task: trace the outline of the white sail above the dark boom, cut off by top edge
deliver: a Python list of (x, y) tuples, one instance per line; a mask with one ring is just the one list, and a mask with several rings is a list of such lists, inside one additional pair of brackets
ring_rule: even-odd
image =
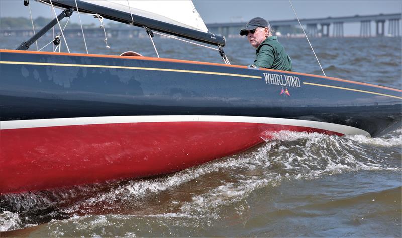
[[(208, 29), (191, 0), (81, 0), (197, 31)], [(129, 8), (130, 7), (130, 8)], [(134, 19), (135, 21), (135, 19)]]

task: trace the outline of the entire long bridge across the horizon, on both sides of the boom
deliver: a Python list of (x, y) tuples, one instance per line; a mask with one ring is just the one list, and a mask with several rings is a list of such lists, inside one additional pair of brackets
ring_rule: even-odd
[[(360, 37), (371, 36), (400, 36), (400, 19), (401, 13), (395, 14), (377, 14), (365, 16), (349, 16), (349, 17), (327, 17), (327, 18), (310, 18), (300, 19), (306, 34), (313, 37), (344, 37), (345, 23), (360, 23)], [(371, 34), (371, 23), (375, 23), (375, 34)], [(282, 36), (303, 36), (303, 32), (299, 27), (297, 19), (270, 21), (271, 26), (276, 32), (280, 32)], [(246, 22), (231, 23), (212, 23), (207, 24), (210, 32), (223, 35), (225, 37), (240, 37), (239, 31), (246, 25)], [(386, 34), (386, 26), (388, 31)], [(58, 29), (55, 28), (57, 33)], [(332, 29), (332, 34), (330, 33)], [(103, 29), (99, 27), (85, 28), (85, 36), (88, 37), (104, 37)], [(106, 26), (108, 37), (148, 37), (145, 30), (138, 27), (132, 27), (127, 24), (118, 24), (113, 27)], [(50, 36), (51, 31), (47, 32)], [(80, 36), (81, 28), (66, 28), (64, 34), (67, 36)], [(0, 29), (2, 36), (24, 36), (33, 35), (32, 29)]]

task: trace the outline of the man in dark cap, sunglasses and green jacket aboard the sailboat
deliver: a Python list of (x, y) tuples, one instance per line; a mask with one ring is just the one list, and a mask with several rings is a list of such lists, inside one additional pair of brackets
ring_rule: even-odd
[(272, 36), (269, 23), (260, 17), (251, 19), (240, 31), (246, 35), (251, 46), (257, 48), (251, 67), (292, 71), (292, 61), (276, 36)]

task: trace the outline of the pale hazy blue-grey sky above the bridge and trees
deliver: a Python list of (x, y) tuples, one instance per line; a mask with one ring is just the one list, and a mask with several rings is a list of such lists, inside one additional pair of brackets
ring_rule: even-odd
[[(125, 0), (122, 0), (125, 1)], [(50, 17), (50, 8), (31, 0), (33, 17)], [(256, 0), (193, 0), (195, 7), (205, 23), (239, 22), (259, 16), (267, 20), (294, 19), (294, 13), (289, 1), (256, 1)], [(360, 0), (360, 1), (324, 1), (324, 0), (293, 0), (293, 6), (299, 18), (337, 17), (402, 12), (401, 0)], [(29, 17), (29, 10), (23, 5), (23, 0), (0, 0), (1, 17)], [(92, 21), (91, 17), (83, 17), (85, 23)], [(78, 18), (71, 19), (78, 22)]]

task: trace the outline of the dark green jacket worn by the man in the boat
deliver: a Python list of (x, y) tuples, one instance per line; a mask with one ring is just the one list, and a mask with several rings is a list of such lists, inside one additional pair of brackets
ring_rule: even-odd
[(261, 68), (292, 71), (292, 61), (276, 36), (268, 37), (258, 46), (254, 65)]

